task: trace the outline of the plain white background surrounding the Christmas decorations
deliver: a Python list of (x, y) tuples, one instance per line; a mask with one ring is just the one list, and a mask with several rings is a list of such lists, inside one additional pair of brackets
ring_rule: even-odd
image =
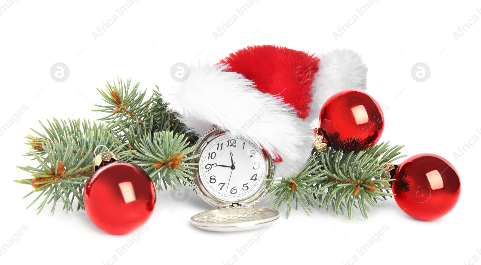
[[(0, 4), (6, 0), (0, 0)], [(101, 103), (97, 88), (117, 75), (142, 88), (163, 88), (174, 81), (170, 67), (177, 62), (215, 63), (228, 53), (254, 44), (275, 44), (320, 53), (338, 47), (363, 55), (368, 91), (389, 107), (381, 140), (405, 144), (404, 154), (432, 152), (447, 158), (457, 169), (462, 192), (456, 208), (443, 218), (424, 222), (404, 213), (393, 199), (372, 209), (369, 220), (359, 212), (349, 221), (332, 211), (300, 210), (289, 220), (285, 211), (278, 221), (242, 256), (236, 252), (256, 231), (215, 233), (190, 225), (190, 216), (212, 209), (197, 195), (175, 202), (169, 192), (158, 195), (147, 232), (114, 264), (481, 264), (471, 260), (481, 248), (479, 229), (479, 153), (481, 142), (455, 159), (453, 152), (481, 129), (480, 30), (475, 22), (457, 40), (453, 32), (468, 22), (481, 5), (476, 1), (374, 2), (364, 14), (356, 9), (367, 1), (254, 2), (220, 38), (217, 27), (236, 14), (246, 0), (135, 2), (97, 40), (92, 32), (116, 13), (125, 0), (13, 2), (0, 16), (0, 75), (3, 98), (0, 124), (23, 105), (20, 120), (1, 139), (2, 218), (0, 245), (23, 225), (28, 230), (0, 256), (1, 264), (107, 264), (115, 250), (133, 234), (113, 236), (99, 232), (85, 212), (65, 215), (58, 205), (36, 217), (24, 210), (31, 190), (11, 182), (29, 175), (14, 165), (27, 165), (22, 137), (37, 120), (101, 117), (91, 112)], [(337, 40), (332, 32), (354, 14), (359, 20)], [(54, 63), (70, 68), (64, 82), (50, 76)], [(430, 78), (415, 81), (411, 67), (430, 67)], [(481, 135), (478, 134), (481, 137)], [(262, 206), (270, 203), (262, 202)], [(280, 209), (282, 210), (282, 209)], [(35, 217), (35, 219), (34, 219)], [(362, 247), (383, 226), (389, 230), (364, 255)], [(229, 261), (233, 255), (239, 260)], [(471, 260), (471, 261), (469, 261)], [(112, 262), (109, 262), (112, 264)]]

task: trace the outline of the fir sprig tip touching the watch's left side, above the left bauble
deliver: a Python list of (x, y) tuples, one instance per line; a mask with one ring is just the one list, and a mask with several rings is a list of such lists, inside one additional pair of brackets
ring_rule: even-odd
[(193, 178), (191, 170), (196, 169), (196, 164), (188, 163), (197, 155), (189, 156), (195, 146), (187, 140), (185, 135), (174, 135), (172, 131), (154, 132), (152, 137), (144, 134), (136, 146), (137, 150), (131, 151), (131, 162), (149, 174), (157, 191), (163, 190), (162, 184), (164, 188), (182, 187), (183, 183), (190, 183)]

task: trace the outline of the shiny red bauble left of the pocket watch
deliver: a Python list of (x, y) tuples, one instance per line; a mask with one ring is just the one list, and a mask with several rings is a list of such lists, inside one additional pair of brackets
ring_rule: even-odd
[(117, 161), (102, 166), (89, 179), (84, 204), (97, 227), (111, 234), (127, 234), (152, 215), (155, 187), (143, 169)]

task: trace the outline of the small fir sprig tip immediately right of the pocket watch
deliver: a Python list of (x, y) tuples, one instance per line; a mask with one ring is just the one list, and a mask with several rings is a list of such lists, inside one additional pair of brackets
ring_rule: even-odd
[(319, 164), (318, 159), (317, 155), (312, 155), (302, 170), (295, 176), (286, 177), (284, 179), (266, 179), (266, 181), (278, 182), (264, 189), (270, 193), (267, 197), (267, 201), (276, 196), (272, 202), (272, 207), (277, 209), (282, 202), (286, 202), (287, 218), (291, 215), (292, 200), (295, 201), (295, 209), (298, 210), (299, 204), (301, 204), (301, 207), (307, 215), (312, 213), (311, 207), (314, 207), (315, 204), (322, 206), (322, 204), (316, 200), (316, 195), (320, 196), (324, 194), (324, 192), (317, 189), (315, 184), (326, 177), (320, 172), (321, 165)]

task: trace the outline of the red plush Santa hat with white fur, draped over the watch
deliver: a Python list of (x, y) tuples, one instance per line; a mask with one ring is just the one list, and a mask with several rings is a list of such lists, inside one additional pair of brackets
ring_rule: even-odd
[(261, 45), (214, 66), (192, 65), (187, 80), (162, 94), (198, 136), (216, 125), (251, 139), (277, 162), (276, 177), (288, 177), (310, 156), (324, 101), (342, 89), (366, 89), (366, 72), (352, 50), (315, 56)]

